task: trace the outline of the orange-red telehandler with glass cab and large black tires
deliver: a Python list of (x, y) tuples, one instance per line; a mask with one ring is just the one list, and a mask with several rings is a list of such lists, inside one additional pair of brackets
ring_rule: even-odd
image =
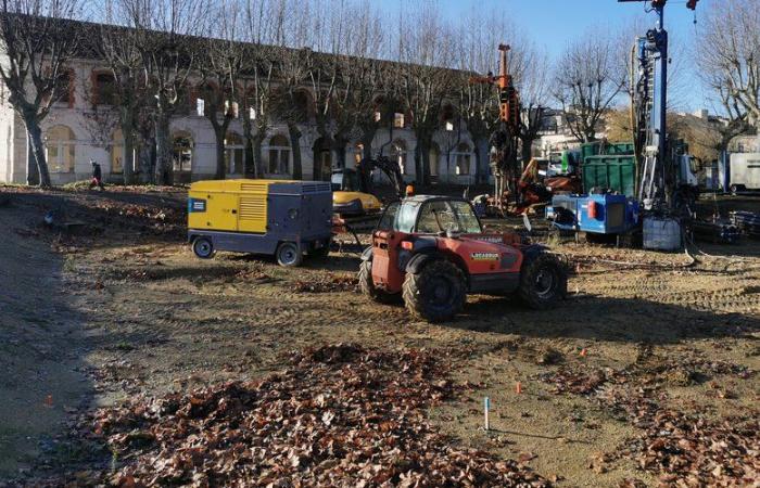
[(555, 255), (516, 233), (485, 233), (463, 198), (417, 195), (392, 203), (362, 255), (362, 292), (380, 303), (403, 298), (416, 317), (438, 322), (465, 306), (468, 293), (517, 294), (536, 309), (567, 293)]

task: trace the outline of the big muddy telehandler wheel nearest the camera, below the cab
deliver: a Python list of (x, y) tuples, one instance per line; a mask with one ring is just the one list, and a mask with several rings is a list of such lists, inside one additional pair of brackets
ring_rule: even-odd
[(467, 301), (465, 274), (452, 261), (436, 259), (418, 273), (406, 273), (404, 304), (413, 316), (442, 322), (461, 311)]

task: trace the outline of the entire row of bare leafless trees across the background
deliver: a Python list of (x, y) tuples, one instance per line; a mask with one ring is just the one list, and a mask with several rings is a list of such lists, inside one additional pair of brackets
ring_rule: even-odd
[[(216, 134), (218, 178), (226, 174), (225, 139), (237, 117), (246, 174), (262, 172), (262, 145), (277, 121), (288, 128), (293, 177), (300, 178), (304, 123), (340, 162), (350, 141), (372, 155), (377, 131), (392, 128), (401, 113), (417, 139), (416, 175), (427, 183), (433, 136), (442, 128), (448, 129), (447, 157), (465, 128), (476, 143), (477, 167), (487, 157), (482, 149), (497, 125), (498, 99), (494, 87), (469, 80), (495, 70), (501, 42), (512, 46), (523, 157), (546, 106), (561, 106), (575, 138), (588, 141), (628, 88), (631, 36), (580, 37), (553, 69), (548, 56), (503, 17), (471, 13), (452, 24), (433, 0), (403, 4), (396, 14), (369, 0), (109, 0), (98, 12), (88, 12), (88, 4), (0, 0), (8, 55), (0, 75), (27, 128), (42, 185), (50, 177), (40, 124), (65, 93), (67, 66), (78, 57), (100, 59), (111, 74), (111, 103), (93, 98), (88, 116), (94, 127), (107, 127), (103, 120), (110, 118), (122, 129), (127, 183), (135, 181), (134, 167), (151, 180), (173, 182), (169, 124), (195, 98)], [(734, 131), (760, 118), (757, 4), (738, 0), (712, 12), (704, 37), (710, 49), (696, 53)]]

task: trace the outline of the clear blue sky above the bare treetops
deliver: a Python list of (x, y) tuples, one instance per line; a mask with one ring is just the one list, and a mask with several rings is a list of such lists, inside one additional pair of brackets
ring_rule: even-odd
[[(391, 7), (392, 0), (379, 0)], [(408, 2), (417, 0), (396, 0)], [(698, 81), (691, 66), (693, 46), (699, 34), (700, 18), (707, 9), (714, 3), (725, 0), (700, 0), (695, 12), (686, 8), (685, 0), (669, 0), (666, 7), (666, 29), (670, 33), (671, 55), (673, 64), (683, 73), (680, 75), (679, 87), (674, 88), (671, 100), (673, 108), (680, 111), (696, 111), (711, 108), (707, 100), (708, 93), (697, 87)], [(590, 28), (608, 26), (610, 29), (623, 28), (633, 22), (643, 26), (643, 30), (654, 27), (657, 22), (655, 13), (645, 13), (647, 2), (619, 3), (616, 0), (439, 0), (441, 13), (452, 22), (464, 16), (472, 9), (485, 10), (506, 14), (516, 25), (524, 28), (534, 42), (546, 49), (550, 56), (559, 55), (568, 42), (582, 36)], [(394, 7), (394, 8), (397, 8)], [(642, 35), (645, 31), (641, 33)], [(633, 40), (632, 40), (633, 42)], [(672, 69), (672, 68), (671, 68)], [(695, 87), (697, 87), (695, 89)]]

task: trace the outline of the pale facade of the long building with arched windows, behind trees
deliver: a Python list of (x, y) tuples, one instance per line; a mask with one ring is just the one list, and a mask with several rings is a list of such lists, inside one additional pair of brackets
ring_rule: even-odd
[[(53, 184), (85, 180), (91, 174), (90, 159), (101, 164), (106, 181), (122, 181), (124, 142), (116, 111), (103, 108), (102, 91), (107, 86), (107, 69), (96, 60), (80, 59), (68, 63), (69, 90), (56, 102), (43, 120), (48, 164)], [(7, 90), (0, 82), (0, 182), (26, 183), (35, 172), (26, 138), (18, 115), (8, 103)], [(100, 91), (99, 91), (100, 90)], [(101, 101), (92, 101), (101, 95)], [(172, 120), (174, 169), (178, 182), (212, 178), (216, 169), (216, 139), (210, 120), (203, 116), (203, 101), (189, 101), (189, 110)], [(98, 106), (98, 108), (94, 108)], [(243, 127), (238, 114), (226, 139), (228, 178), (243, 176)], [(391, 127), (393, 125), (393, 127)], [(442, 124), (430, 150), (433, 181), (470, 184), (489, 174), (487, 160), (477, 168), (474, 143), (463, 124)], [(301, 127), (300, 141), (303, 179), (328, 180), (332, 169), (342, 165), (335, 152), (324, 149), (314, 124)], [(395, 159), (405, 179), (415, 179), (414, 154), (417, 145), (414, 132), (403, 114), (395, 114), (388, 128), (380, 129), (372, 142), (372, 151), (384, 145), (384, 154)], [(487, 149), (481, 147), (481, 154)], [(360, 159), (362, 146), (346, 146), (345, 165), (351, 167)], [(137, 159), (137, 158), (136, 158)], [(293, 174), (293, 151), (284, 124), (271, 124), (263, 146), (265, 178), (290, 178)], [(484, 157), (483, 159), (487, 159)]]

